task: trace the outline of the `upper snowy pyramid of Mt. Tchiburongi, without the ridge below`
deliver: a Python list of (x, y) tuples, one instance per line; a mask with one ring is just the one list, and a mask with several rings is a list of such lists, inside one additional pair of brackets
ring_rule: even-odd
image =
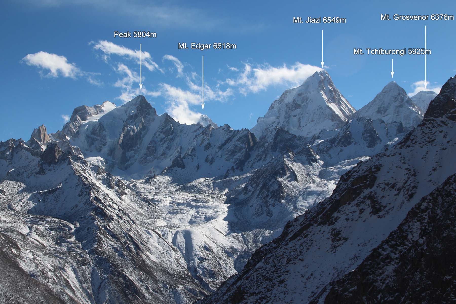
[(375, 98), (357, 113), (370, 119), (383, 119), (385, 123), (402, 122), (414, 127), (423, 119), (421, 109), (396, 82), (389, 82)]

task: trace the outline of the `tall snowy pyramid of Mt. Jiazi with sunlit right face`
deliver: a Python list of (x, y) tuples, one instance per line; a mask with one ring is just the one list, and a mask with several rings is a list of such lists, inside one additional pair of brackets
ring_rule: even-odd
[(257, 138), (276, 126), (305, 137), (337, 129), (355, 109), (334, 86), (326, 71), (315, 72), (301, 86), (286, 90), (251, 129)]

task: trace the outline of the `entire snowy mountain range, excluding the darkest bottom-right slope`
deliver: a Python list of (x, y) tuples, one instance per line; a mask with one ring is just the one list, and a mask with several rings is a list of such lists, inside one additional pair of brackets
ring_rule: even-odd
[(390, 82), (356, 112), (316, 72), (251, 130), (180, 124), (141, 95), (75, 108), (61, 131), (0, 142), (1, 265), (24, 286), (0, 278), (0, 294), (348, 303), (363, 271), (378, 288), (369, 257), (407, 213), (451, 192), (453, 89), (409, 98)]

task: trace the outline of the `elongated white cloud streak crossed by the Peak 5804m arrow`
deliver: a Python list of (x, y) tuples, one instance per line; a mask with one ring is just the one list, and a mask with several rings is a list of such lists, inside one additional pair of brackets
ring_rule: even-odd
[(149, 69), (149, 71), (158, 70), (163, 72), (161, 68), (156, 64), (149, 52), (140, 52), (140, 50), (132, 50), (125, 46), (119, 46), (111, 41), (100, 40), (96, 43), (93, 48), (95, 50), (100, 50), (104, 53), (103, 59), (108, 62), (108, 59), (111, 55), (117, 55), (128, 60), (132, 60), (140, 64), (140, 57), (142, 59), (142, 64)]

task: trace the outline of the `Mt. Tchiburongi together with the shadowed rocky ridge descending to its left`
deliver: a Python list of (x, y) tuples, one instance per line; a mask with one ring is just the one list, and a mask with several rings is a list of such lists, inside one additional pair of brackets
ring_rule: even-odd
[(314, 149), (326, 165), (373, 156), (415, 128), (423, 119), (422, 113), (403, 88), (389, 82), (337, 134), (324, 141), (318, 140), (322, 136), (315, 136)]

